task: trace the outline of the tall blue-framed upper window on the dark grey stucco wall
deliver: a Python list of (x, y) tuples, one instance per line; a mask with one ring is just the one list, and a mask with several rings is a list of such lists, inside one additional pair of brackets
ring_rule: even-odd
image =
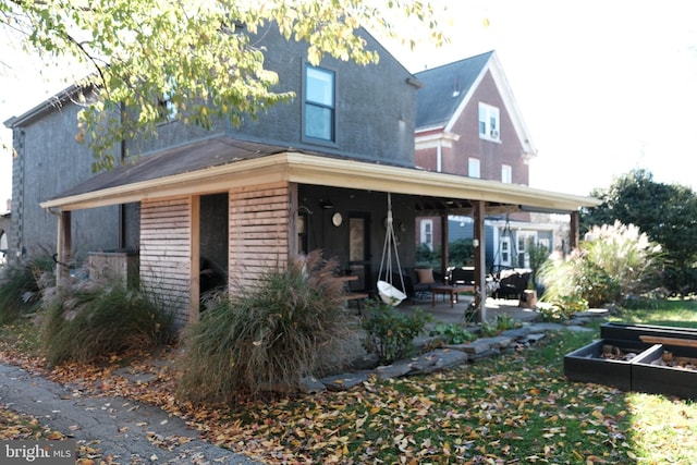
[(334, 73), (305, 68), (305, 137), (334, 142)]

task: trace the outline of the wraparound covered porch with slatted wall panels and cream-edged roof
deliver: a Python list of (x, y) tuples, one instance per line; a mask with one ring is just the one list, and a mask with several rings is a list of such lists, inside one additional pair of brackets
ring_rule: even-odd
[[(395, 198), (395, 217), (402, 219), (403, 267), (414, 266), (409, 219), (433, 213), (443, 221), (449, 215), (474, 218), (478, 320), (486, 320), (489, 311), (488, 305), (480, 305), (487, 302), (482, 252), (487, 215), (522, 209), (570, 213), (574, 246), (578, 209), (596, 205), (588, 197), (213, 137), (143, 157), (41, 206), (59, 213), (58, 261), (65, 264), (73, 247), (73, 210), (137, 203), (140, 280), (171, 298), (185, 325), (198, 318), (198, 264), (206, 247), (220, 248), (217, 254), (231, 291), (253, 285), (268, 269), (282, 268), (314, 248), (340, 257), (342, 266), (363, 266), (357, 269), (364, 270), (364, 286), (371, 289), (379, 247), (352, 256), (355, 235), (350, 220), (363, 218), (366, 244), (379, 244), (384, 236), (388, 193)], [(314, 225), (304, 229), (308, 212)], [(207, 215), (216, 221), (206, 221)], [(211, 241), (203, 241), (203, 235)], [(443, 255), (447, 260), (447, 252)], [(66, 272), (61, 267), (58, 271), (59, 279)]]

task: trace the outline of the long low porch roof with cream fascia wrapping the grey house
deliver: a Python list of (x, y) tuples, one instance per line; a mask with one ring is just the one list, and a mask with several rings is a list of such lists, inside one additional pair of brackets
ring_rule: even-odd
[(464, 211), (470, 200), (550, 212), (599, 204), (591, 197), (221, 136), (144, 156), (135, 164), (100, 173), (40, 206), (80, 210), (280, 181), (418, 196), (424, 210)]

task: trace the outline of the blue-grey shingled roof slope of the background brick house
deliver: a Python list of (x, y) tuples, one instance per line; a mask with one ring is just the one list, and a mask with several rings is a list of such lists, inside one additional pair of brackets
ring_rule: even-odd
[(444, 125), (492, 54), (488, 51), (414, 74), (424, 85), (416, 93), (416, 129)]

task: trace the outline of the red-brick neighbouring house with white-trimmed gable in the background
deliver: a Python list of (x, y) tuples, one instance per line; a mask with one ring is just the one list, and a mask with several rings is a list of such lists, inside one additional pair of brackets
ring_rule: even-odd
[[(423, 84), (416, 106), (417, 167), (503, 184), (529, 184), (528, 162), (537, 150), (494, 51), (415, 76)], [(449, 216), (455, 218), (448, 222), (438, 217), (417, 218), (417, 244), (438, 249), (456, 238), (474, 237), (472, 220), (463, 216), (467, 211), (457, 207), (452, 206)], [(531, 221), (531, 213), (509, 207), (489, 209), (488, 266), (528, 266), (525, 248), (530, 241), (550, 249), (560, 246), (555, 234), (564, 231), (558, 224), (540, 213)]]

